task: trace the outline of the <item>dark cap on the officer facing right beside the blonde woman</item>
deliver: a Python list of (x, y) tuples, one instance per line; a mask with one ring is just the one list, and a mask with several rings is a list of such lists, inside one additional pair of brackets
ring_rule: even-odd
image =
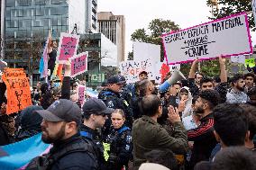
[(105, 103), (97, 98), (90, 98), (83, 105), (84, 114), (111, 114), (114, 109), (105, 106)]

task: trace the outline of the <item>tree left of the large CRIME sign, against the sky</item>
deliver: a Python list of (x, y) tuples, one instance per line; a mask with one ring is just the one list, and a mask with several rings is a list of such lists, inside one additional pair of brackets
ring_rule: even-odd
[[(175, 22), (171, 22), (170, 20), (154, 19), (150, 22), (147, 30), (144, 28), (135, 30), (131, 35), (131, 40), (160, 45), (160, 59), (163, 61), (164, 50), (160, 36), (163, 33), (178, 30), (179, 26), (178, 24), (175, 24)], [(129, 58), (133, 58), (133, 53), (129, 52)]]

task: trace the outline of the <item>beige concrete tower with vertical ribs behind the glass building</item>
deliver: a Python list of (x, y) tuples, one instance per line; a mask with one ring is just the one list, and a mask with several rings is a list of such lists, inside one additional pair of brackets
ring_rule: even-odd
[(123, 15), (111, 12), (98, 13), (98, 31), (117, 46), (118, 63), (124, 60), (125, 47), (125, 19)]

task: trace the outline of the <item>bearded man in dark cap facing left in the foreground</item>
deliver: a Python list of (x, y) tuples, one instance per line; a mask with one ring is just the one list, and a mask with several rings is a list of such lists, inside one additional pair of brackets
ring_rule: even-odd
[(97, 169), (95, 152), (78, 130), (81, 112), (76, 103), (60, 99), (37, 112), (43, 118), (41, 140), (53, 147), (48, 154), (32, 159), (26, 169)]

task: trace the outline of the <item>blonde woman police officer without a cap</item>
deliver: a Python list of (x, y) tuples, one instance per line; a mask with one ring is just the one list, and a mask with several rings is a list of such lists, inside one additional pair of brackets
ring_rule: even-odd
[(121, 170), (123, 166), (128, 169), (128, 162), (132, 158), (133, 142), (131, 129), (125, 126), (124, 113), (116, 109), (111, 114), (112, 130), (106, 138), (110, 145), (108, 153), (108, 169)]

